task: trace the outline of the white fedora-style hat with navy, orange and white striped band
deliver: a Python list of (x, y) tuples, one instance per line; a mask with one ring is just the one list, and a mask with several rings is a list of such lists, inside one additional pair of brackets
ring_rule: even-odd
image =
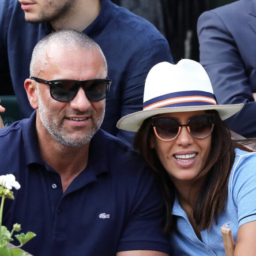
[(218, 105), (211, 81), (203, 66), (183, 59), (177, 64), (161, 62), (149, 71), (143, 98), (143, 110), (128, 114), (117, 122), (117, 128), (136, 132), (148, 117), (162, 113), (211, 110), (222, 120), (237, 113), (243, 104)]

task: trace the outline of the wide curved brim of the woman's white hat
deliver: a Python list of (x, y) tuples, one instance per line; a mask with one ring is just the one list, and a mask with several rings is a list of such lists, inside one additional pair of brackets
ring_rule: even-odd
[(222, 120), (233, 116), (235, 113), (241, 110), (243, 107), (241, 104), (233, 105), (198, 105), (198, 106), (183, 106), (183, 107), (169, 107), (169, 108), (158, 108), (158, 109), (147, 109), (136, 113), (128, 114), (120, 118), (117, 122), (117, 128), (126, 130), (129, 132), (137, 132), (139, 127), (145, 119), (148, 117), (153, 117), (158, 114), (163, 113), (176, 113), (176, 112), (190, 112), (190, 111), (200, 111), (200, 110), (217, 110), (219, 116)]

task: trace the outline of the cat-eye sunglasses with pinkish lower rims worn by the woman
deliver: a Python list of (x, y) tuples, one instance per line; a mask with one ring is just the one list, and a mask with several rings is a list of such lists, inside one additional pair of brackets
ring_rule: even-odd
[(152, 117), (152, 125), (154, 133), (158, 139), (171, 141), (175, 139), (181, 132), (181, 127), (185, 126), (188, 132), (196, 139), (207, 138), (214, 128), (214, 115), (201, 114), (192, 117), (188, 124), (180, 124), (172, 117)]

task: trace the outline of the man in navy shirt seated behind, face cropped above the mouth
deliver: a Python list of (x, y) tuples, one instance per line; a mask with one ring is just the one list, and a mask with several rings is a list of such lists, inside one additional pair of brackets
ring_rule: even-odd
[[(25, 14), (25, 15), (24, 15)], [(0, 0), (0, 95), (13, 85), (23, 117), (31, 108), (23, 88), (36, 43), (54, 30), (75, 29), (102, 48), (113, 82), (106, 98), (102, 128), (127, 144), (134, 133), (116, 128), (120, 117), (142, 110), (147, 72), (172, 62), (166, 38), (149, 22), (111, 0)], [(1, 110), (0, 110), (1, 111)]]

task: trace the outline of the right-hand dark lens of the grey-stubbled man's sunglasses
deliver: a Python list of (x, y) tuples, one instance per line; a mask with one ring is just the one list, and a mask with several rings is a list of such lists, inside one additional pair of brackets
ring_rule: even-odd
[(109, 82), (103, 79), (88, 81), (83, 87), (86, 96), (91, 101), (100, 101), (107, 97), (109, 92)]

